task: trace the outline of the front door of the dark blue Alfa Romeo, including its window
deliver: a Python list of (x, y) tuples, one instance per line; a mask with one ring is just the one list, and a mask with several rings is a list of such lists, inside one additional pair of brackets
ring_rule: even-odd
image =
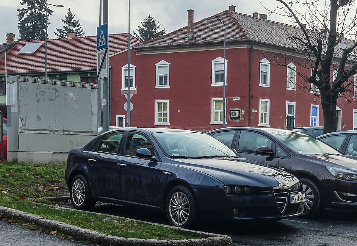
[(149, 137), (141, 132), (128, 132), (120, 165), (119, 192), (121, 200), (161, 206), (157, 187), (165, 186), (166, 174), (159, 170), (161, 162), (136, 156), (136, 150), (147, 148), (157, 158), (157, 152)]

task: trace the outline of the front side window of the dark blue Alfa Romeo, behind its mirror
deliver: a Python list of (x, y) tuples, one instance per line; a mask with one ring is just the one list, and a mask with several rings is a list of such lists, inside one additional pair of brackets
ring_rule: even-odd
[(155, 155), (154, 146), (152, 146), (146, 136), (136, 132), (129, 132), (126, 139), (124, 155), (136, 156), (136, 150), (141, 148), (147, 148), (152, 156)]

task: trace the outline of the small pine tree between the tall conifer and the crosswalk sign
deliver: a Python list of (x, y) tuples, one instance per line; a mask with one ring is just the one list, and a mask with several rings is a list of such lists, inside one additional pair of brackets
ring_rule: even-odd
[(74, 32), (75, 37), (82, 37), (84, 35), (84, 31), (81, 26), (81, 22), (79, 19), (74, 19), (76, 15), (74, 12), (69, 8), (67, 10), (67, 15), (65, 15), (65, 19), (61, 19), (61, 21), (65, 24), (63, 29), (57, 29), (55, 32), (56, 37), (59, 39), (65, 38), (68, 35), (68, 32)]

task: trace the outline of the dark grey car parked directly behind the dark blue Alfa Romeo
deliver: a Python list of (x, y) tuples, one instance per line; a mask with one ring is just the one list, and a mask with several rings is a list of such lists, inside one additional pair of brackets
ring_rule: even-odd
[(207, 133), (247, 159), (298, 177), (306, 192), (306, 217), (322, 207), (357, 208), (356, 157), (315, 137), (289, 130), (227, 127)]

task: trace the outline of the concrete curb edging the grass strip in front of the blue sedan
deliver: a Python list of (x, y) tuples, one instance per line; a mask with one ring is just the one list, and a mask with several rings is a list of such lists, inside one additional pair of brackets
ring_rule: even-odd
[[(66, 209), (66, 208), (62, 208), (62, 209)], [(206, 236), (207, 238), (191, 239), (191, 240), (170, 240), (170, 241), (156, 240), (156, 239), (146, 240), (146, 239), (135, 239), (135, 238), (126, 239), (124, 237), (105, 235), (89, 229), (84, 229), (78, 226), (69, 225), (56, 220), (45, 219), (37, 215), (32, 215), (23, 211), (10, 209), (8, 207), (2, 207), (2, 206), (0, 206), (0, 217), (22, 220), (27, 223), (32, 223), (37, 226), (41, 226), (45, 229), (62, 232), (66, 235), (76, 238), (77, 240), (86, 240), (91, 242), (92, 244), (103, 245), (103, 246), (216, 246), (216, 245), (230, 246), (232, 245), (232, 239), (230, 236), (210, 234), (201, 231), (192, 231), (188, 229), (182, 229), (179, 227), (167, 226), (167, 225), (164, 226), (176, 229), (178, 231), (191, 233), (194, 236)], [(111, 217), (118, 217), (118, 216), (111, 216)], [(123, 218), (123, 219), (127, 219), (127, 218)], [(127, 220), (132, 220), (132, 219), (127, 219)], [(149, 223), (145, 221), (141, 221), (141, 222), (152, 224), (152, 225), (160, 225), (160, 224)]]

